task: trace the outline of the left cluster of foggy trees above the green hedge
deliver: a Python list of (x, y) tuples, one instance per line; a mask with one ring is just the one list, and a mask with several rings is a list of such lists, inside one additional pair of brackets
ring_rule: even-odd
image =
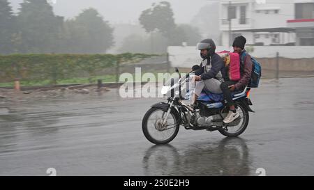
[(0, 1), (0, 54), (102, 54), (114, 44), (113, 28), (94, 8), (64, 21), (43, 0), (25, 0), (17, 15)]

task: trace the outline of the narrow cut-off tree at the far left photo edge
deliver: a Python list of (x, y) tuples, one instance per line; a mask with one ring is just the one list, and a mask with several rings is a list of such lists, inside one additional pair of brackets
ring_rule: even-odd
[(7, 0), (0, 0), (0, 54), (14, 52), (15, 16)]

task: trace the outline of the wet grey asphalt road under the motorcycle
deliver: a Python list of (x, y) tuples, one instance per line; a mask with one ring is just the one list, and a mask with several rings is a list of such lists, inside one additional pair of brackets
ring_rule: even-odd
[(181, 128), (170, 145), (144, 138), (160, 99), (99, 96), (0, 104), (0, 175), (314, 175), (314, 78), (264, 80), (241, 138)]

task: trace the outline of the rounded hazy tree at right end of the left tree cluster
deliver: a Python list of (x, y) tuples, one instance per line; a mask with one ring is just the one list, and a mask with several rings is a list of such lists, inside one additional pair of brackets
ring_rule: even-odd
[(63, 52), (103, 54), (113, 44), (113, 28), (94, 8), (83, 10), (64, 24)]

